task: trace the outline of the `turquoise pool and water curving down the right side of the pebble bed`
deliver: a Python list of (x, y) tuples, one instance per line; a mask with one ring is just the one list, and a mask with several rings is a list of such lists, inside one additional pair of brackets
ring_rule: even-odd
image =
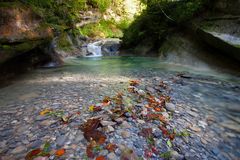
[[(179, 77), (180, 74), (182, 76)], [(158, 57), (68, 58), (61, 68), (38, 69), (0, 89), (0, 107), (11, 109), (13, 104), (24, 104), (38, 95), (47, 99), (45, 94), (54, 87), (71, 92), (78, 90), (79, 85), (86, 85), (86, 88), (95, 83), (104, 83), (110, 86), (108, 91), (112, 93), (118, 85), (121, 87), (120, 82), (129, 79), (166, 81), (172, 88), (170, 96), (175, 103), (191, 106), (199, 110), (203, 117), (215, 118), (209, 126), (210, 130), (223, 139), (227, 137), (225, 144), (218, 144), (220, 149), (228, 152), (229, 157), (240, 157), (239, 72), (171, 64)], [(71, 85), (71, 88), (65, 89), (64, 83)], [(82, 88), (83, 98), (84, 95), (93, 95), (94, 98), (100, 94), (98, 87), (95, 90), (96, 93), (84, 93)]]

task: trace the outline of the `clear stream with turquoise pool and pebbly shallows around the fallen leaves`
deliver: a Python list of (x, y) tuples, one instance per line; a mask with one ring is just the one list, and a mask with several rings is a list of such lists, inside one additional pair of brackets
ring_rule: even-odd
[[(67, 58), (63, 67), (34, 70), (1, 88), (0, 157), (21, 159), (49, 140), (53, 149), (66, 148), (68, 159), (83, 159), (87, 142), (74, 125), (94, 116), (87, 106), (98, 103), (104, 96), (127, 92), (132, 79), (140, 80), (142, 87), (152, 94), (156, 94), (160, 81), (171, 88), (169, 96), (176, 108), (170, 126), (191, 133), (174, 140), (172, 149), (179, 153), (175, 159), (240, 159), (239, 72), (171, 64), (158, 57), (117, 56)], [(39, 117), (45, 108), (80, 111), (81, 117), (62, 126), (55, 119)], [(144, 157), (146, 142), (136, 135), (139, 128), (154, 128), (157, 124), (139, 127), (131, 118), (126, 121), (132, 128), (122, 131), (114, 127), (116, 133), (109, 133), (108, 139)], [(124, 137), (122, 132), (129, 132), (130, 136)], [(161, 152), (169, 149), (161, 145), (164, 140), (159, 141), (156, 136)], [(119, 149), (114, 155), (104, 151), (101, 154), (108, 159), (121, 156)], [(150, 159), (161, 158), (153, 154)]]

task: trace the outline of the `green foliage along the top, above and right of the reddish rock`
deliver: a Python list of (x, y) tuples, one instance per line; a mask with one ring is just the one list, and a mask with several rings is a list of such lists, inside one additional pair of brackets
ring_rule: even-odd
[(74, 24), (80, 21), (79, 11), (87, 10), (90, 5), (101, 12), (106, 11), (111, 5), (109, 0), (24, 0), (24, 2), (31, 5), (47, 23), (57, 26), (56, 29), (61, 29), (59, 26), (73, 28)]

